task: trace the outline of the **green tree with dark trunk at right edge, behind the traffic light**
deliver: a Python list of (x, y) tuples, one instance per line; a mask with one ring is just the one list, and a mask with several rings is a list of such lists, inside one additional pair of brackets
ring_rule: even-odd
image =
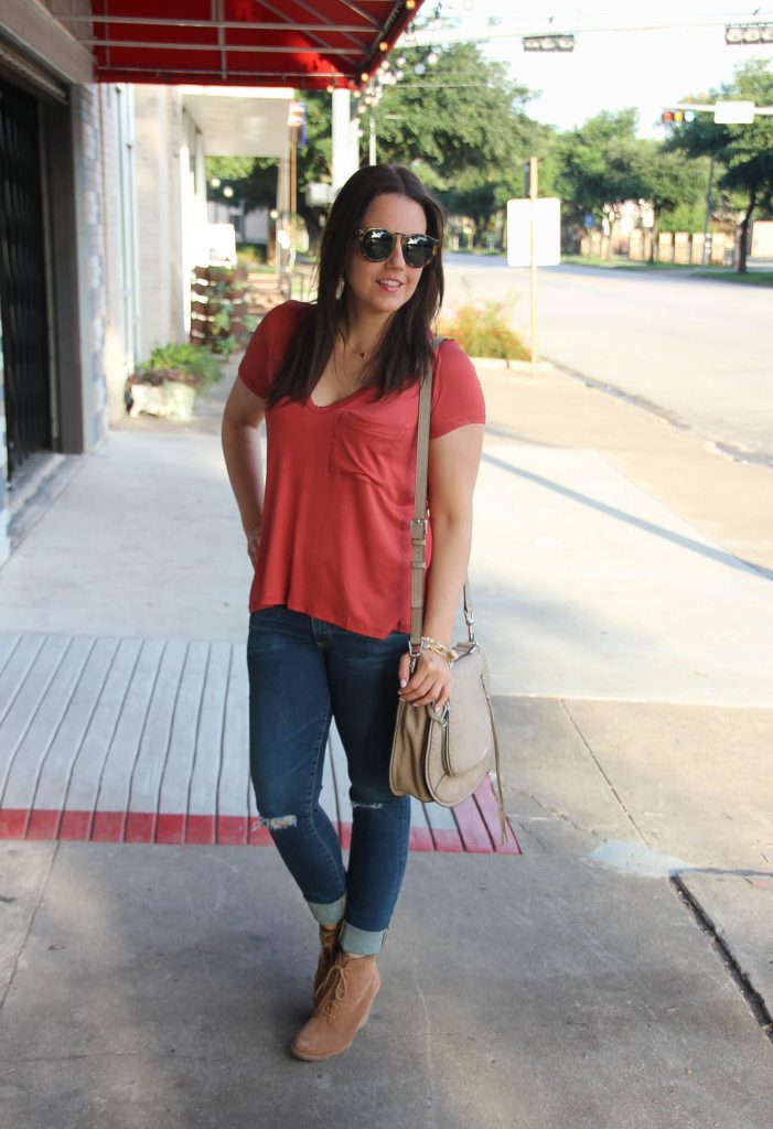
[[(737, 68), (734, 80), (711, 91), (711, 100), (746, 100), (773, 105), (773, 71), (765, 60)], [(773, 216), (773, 116), (757, 115), (750, 125), (718, 125), (699, 115), (674, 132), (667, 148), (688, 157), (709, 157), (719, 168), (717, 185), (739, 194), (744, 216), (739, 231), (738, 270), (746, 271), (748, 231), (755, 212)]]

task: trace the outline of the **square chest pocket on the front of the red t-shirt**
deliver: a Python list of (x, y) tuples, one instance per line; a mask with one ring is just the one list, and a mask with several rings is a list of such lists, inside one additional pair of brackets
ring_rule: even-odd
[(378, 485), (388, 493), (413, 496), (407, 423), (381, 423), (343, 412), (335, 423), (331, 470)]

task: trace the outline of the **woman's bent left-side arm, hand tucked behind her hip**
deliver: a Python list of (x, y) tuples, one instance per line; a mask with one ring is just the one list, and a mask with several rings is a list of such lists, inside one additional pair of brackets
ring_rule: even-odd
[(251, 392), (237, 376), (222, 413), (222, 452), (253, 564), (257, 561), (263, 518), (263, 458), (258, 427), (264, 415), (265, 401)]

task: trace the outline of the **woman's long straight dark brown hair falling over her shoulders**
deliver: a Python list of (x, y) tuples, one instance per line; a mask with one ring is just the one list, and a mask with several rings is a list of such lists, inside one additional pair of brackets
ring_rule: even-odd
[[(440, 205), (419, 177), (402, 165), (371, 165), (351, 176), (335, 198), (325, 224), (317, 263), (317, 300), (299, 326), (297, 344), (286, 357), (272, 383), (269, 406), (288, 396), (305, 400), (330, 360), (335, 334), (345, 321), (346, 288), (340, 280), (354, 231), (362, 226), (368, 208), (384, 193), (415, 200), (427, 217), (427, 234), (442, 242), (443, 217)], [(421, 379), (432, 362), (431, 327), (440, 312), (443, 295), (441, 250), (424, 266), (413, 295), (386, 324), (374, 355), (363, 371), (364, 385), (377, 396)]]

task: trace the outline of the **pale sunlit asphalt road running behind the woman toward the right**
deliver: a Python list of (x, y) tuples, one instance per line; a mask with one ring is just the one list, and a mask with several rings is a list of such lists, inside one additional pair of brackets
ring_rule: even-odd
[[(445, 262), (446, 312), (503, 301), (528, 340), (528, 270)], [(539, 270), (537, 315), (542, 357), (773, 469), (773, 290), (562, 265)]]

